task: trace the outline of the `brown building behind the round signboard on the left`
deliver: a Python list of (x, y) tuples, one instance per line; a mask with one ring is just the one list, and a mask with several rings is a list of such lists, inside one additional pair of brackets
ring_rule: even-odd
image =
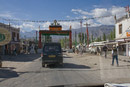
[(20, 53), (20, 38), (19, 38), (19, 33), (20, 29), (19, 28), (14, 28), (12, 26), (0, 23), (0, 28), (5, 28), (11, 33), (12, 40), (10, 43), (0, 46), (0, 54), (12, 54), (13, 49), (16, 48), (17, 53)]

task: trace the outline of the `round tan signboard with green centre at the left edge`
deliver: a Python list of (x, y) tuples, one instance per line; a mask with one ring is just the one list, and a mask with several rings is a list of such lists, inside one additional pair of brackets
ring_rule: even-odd
[(0, 46), (8, 44), (11, 41), (11, 34), (5, 28), (0, 28)]

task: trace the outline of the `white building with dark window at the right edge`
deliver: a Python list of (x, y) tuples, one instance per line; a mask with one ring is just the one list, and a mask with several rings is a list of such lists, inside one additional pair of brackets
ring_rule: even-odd
[(130, 56), (130, 15), (129, 13), (116, 20), (116, 41), (118, 42), (119, 54)]

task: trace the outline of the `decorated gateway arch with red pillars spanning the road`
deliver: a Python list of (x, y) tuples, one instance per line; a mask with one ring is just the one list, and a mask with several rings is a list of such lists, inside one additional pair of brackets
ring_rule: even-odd
[(52, 23), (49, 26), (49, 30), (39, 30), (39, 48), (42, 48), (42, 35), (61, 35), (61, 36), (69, 36), (69, 48), (72, 49), (72, 31), (71, 26), (69, 30), (62, 30), (62, 26), (57, 23), (56, 20), (54, 20), (54, 23)]

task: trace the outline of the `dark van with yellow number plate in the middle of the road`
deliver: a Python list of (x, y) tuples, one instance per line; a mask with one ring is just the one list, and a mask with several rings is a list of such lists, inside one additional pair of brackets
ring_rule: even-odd
[(63, 54), (60, 43), (45, 43), (42, 50), (42, 67), (48, 64), (63, 64)]

